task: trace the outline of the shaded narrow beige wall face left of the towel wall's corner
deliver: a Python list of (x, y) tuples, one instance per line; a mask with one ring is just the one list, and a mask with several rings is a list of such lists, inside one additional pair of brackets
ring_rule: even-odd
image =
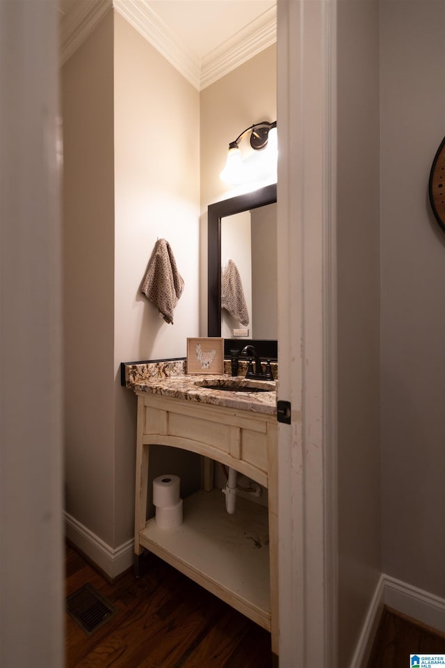
[(112, 13), (63, 67), (62, 114), (66, 510), (113, 545)]

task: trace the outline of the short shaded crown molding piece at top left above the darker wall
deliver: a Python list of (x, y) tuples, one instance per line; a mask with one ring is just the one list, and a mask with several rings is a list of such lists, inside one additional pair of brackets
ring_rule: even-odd
[(79, 49), (99, 21), (113, 7), (113, 0), (72, 3), (60, 19), (60, 58), (62, 64)]

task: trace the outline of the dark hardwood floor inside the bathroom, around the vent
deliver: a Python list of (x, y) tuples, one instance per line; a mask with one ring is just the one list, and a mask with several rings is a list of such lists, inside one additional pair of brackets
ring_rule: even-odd
[(107, 582), (66, 549), (66, 593), (87, 582), (118, 612), (88, 635), (66, 614), (67, 668), (270, 668), (270, 634), (154, 555)]

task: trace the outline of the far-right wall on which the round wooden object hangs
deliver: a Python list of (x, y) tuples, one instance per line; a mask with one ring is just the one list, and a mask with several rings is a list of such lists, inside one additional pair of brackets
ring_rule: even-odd
[(428, 177), (445, 134), (445, 5), (380, 13), (383, 570), (444, 597), (445, 234)]

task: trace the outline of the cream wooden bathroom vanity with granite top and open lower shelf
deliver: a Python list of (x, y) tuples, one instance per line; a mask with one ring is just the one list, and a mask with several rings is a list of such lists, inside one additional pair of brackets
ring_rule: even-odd
[[(184, 363), (127, 367), (126, 385), (138, 397), (135, 553), (158, 555), (246, 617), (270, 630), (277, 624), (277, 414), (275, 391), (237, 392), (202, 386), (221, 376), (187, 376)], [(229, 376), (227, 381), (235, 382)], [(241, 381), (240, 378), (236, 379)], [(262, 381), (256, 381), (261, 387)], [(270, 385), (268, 385), (270, 388)], [(204, 456), (204, 489), (184, 499), (183, 523), (161, 530), (147, 520), (149, 446), (184, 448)], [(268, 488), (268, 507), (213, 489), (213, 462)], [(136, 559), (137, 564), (137, 559)]]

